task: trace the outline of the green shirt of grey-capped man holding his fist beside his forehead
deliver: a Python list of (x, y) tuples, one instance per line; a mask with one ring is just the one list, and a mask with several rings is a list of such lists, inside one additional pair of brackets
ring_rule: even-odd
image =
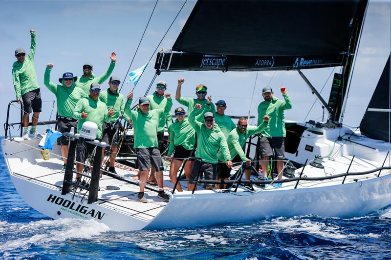
[[(196, 115), (201, 111), (201, 109), (194, 109), (189, 117), (189, 122), (197, 133), (195, 157), (200, 157), (205, 162), (217, 163), (217, 150), (220, 148), (224, 161), (231, 160), (227, 141), (220, 128), (215, 124), (213, 129), (208, 129), (204, 123), (195, 120)], [(207, 108), (202, 112), (206, 113)]]

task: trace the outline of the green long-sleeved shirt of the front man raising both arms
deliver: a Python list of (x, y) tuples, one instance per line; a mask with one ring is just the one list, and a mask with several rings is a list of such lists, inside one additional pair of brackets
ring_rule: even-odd
[[(131, 101), (129, 100), (129, 103)], [(125, 109), (125, 114), (133, 121), (133, 148), (158, 147), (157, 129), (160, 118), (165, 118), (172, 106), (173, 100), (170, 98), (167, 100), (165, 108), (153, 109), (148, 113), (142, 113), (138, 108), (130, 110), (130, 106)]]

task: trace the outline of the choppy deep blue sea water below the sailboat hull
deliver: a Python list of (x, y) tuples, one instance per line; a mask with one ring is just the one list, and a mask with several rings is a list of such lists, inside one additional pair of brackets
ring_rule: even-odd
[(3, 259), (391, 259), (390, 249), (390, 206), (350, 219), (308, 215), (133, 232), (52, 220), (18, 195), (0, 150)]

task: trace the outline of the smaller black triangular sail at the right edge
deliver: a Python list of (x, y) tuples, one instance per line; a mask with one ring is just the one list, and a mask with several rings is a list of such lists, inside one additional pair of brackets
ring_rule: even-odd
[(360, 131), (363, 135), (377, 140), (390, 142), (390, 62), (388, 57), (383, 73), (369, 101), (367, 110), (360, 123)]

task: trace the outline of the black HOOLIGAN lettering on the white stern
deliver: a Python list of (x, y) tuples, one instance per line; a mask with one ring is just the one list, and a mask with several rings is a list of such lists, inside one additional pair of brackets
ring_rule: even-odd
[(70, 200), (64, 200), (63, 198), (57, 197), (52, 194), (49, 195), (47, 201), (57, 205), (61, 205), (60, 209), (62, 211), (66, 211), (73, 215), (79, 216), (83, 219), (88, 219), (88, 216), (90, 216), (92, 218), (97, 218), (99, 220), (102, 220), (103, 216), (105, 216), (105, 213), (102, 213), (98, 210), (89, 209), (88, 207), (83, 206), (82, 204)]

